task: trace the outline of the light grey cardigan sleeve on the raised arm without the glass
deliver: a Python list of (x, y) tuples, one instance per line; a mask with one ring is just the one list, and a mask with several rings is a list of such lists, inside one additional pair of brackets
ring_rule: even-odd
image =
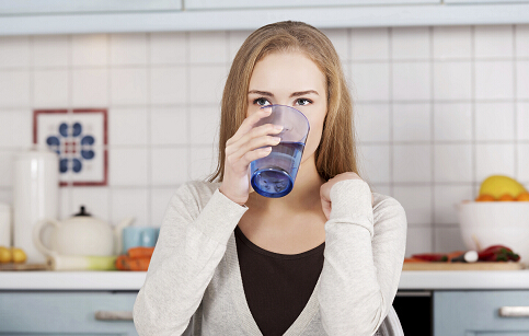
[(319, 291), (320, 312), (331, 335), (371, 336), (396, 294), (404, 262), (406, 217), (391, 197), (371, 206), (366, 182), (349, 179), (331, 189)]

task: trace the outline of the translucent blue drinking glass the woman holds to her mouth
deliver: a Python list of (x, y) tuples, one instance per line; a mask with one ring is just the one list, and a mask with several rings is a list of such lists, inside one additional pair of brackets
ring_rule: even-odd
[(250, 163), (251, 184), (257, 194), (278, 198), (292, 190), (310, 126), (307, 117), (294, 107), (268, 105), (262, 108), (272, 108), (272, 114), (258, 120), (254, 127), (273, 124), (283, 125), (284, 128), (279, 135), (275, 135), (281, 140), (272, 146), (272, 152)]

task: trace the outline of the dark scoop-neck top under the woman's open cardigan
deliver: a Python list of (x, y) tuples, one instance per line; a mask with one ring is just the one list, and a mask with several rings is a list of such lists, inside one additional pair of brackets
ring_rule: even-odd
[(242, 286), (264, 336), (283, 335), (309, 301), (323, 268), (325, 243), (300, 254), (261, 248), (235, 228)]

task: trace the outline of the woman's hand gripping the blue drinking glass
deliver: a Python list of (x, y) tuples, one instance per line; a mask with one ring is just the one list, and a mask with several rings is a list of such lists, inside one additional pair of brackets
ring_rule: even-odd
[(269, 116), (272, 108), (260, 108), (242, 121), (237, 132), (226, 141), (225, 175), (219, 187), (220, 193), (232, 201), (244, 205), (250, 195), (250, 162), (267, 157), (271, 146), (279, 143), (274, 137), (283, 126), (265, 124), (253, 127), (260, 119)]

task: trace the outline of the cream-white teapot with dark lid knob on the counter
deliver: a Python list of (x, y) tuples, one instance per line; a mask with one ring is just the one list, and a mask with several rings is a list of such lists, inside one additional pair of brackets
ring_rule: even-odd
[[(79, 213), (64, 221), (53, 219), (38, 221), (33, 228), (33, 243), (46, 256), (118, 255), (122, 251), (122, 231), (133, 222), (134, 218), (127, 218), (113, 229), (108, 223), (87, 213), (81, 206)], [(50, 236), (50, 248), (41, 240), (41, 232), (49, 224), (55, 227)]]

